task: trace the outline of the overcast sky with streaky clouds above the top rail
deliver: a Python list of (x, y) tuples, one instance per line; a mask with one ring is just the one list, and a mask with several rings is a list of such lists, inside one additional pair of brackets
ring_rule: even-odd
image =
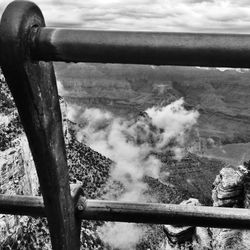
[[(9, 0), (0, 0), (0, 14)], [(250, 33), (250, 0), (34, 0), (48, 26)]]

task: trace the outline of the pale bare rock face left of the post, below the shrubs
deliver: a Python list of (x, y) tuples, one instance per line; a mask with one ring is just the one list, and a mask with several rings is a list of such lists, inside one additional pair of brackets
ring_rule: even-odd
[[(0, 151), (0, 192), (6, 195), (37, 195), (38, 178), (26, 137), (12, 142), (15, 147)], [(0, 215), (0, 239), (16, 233), (27, 216)]]

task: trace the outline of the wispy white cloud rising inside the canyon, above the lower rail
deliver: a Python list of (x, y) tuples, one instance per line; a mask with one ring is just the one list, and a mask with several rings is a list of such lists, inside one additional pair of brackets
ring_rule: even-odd
[(114, 161), (110, 176), (123, 184), (122, 201), (145, 200), (143, 178), (159, 178), (161, 168), (152, 152), (172, 151), (181, 159), (198, 116), (197, 111), (184, 108), (183, 99), (147, 109), (136, 120), (95, 108), (83, 112), (77, 107), (69, 109), (69, 118), (81, 124), (77, 139)]

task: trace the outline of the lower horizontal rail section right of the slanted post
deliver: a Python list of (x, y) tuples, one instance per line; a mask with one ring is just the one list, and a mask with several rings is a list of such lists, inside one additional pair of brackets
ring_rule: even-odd
[(250, 229), (250, 210), (87, 200), (82, 219)]

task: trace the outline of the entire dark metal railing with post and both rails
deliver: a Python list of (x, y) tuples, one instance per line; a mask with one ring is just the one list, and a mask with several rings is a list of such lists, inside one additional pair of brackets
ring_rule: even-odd
[(82, 219), (250, 229), (247, 209), (86, 200), (70, 189), (51, 61), (250, 67), (250, 35), (45, 28), (32, 2), (14, 1), (0, 24), (0, 65), (36, 165), (43, 198), (0, 195), (0, 213), (46, 216), (53, 249), (79, 249)]

